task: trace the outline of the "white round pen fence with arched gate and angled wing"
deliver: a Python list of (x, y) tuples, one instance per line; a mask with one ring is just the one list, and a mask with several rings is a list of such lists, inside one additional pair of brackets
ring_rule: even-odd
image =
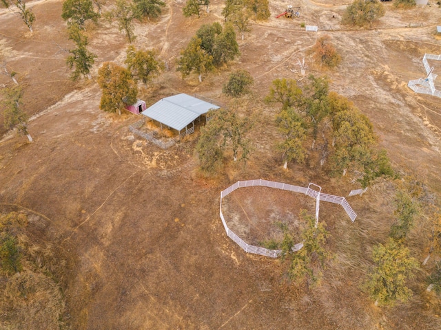
[[(262, 248), (260, 246), (254, 246), (249, 245), (243, 241), (238, 235), (236, 235), (232, 230), (228, 228), (227, 222), (225, 221), (225, 218), (222, 213), (222, 200), (223, 197), (229, 195), (234, 190), (238, 188), (245, 188), (245, 187), (253, 187), (253, 186), (262, 186), (262, 187), (268, 187), (268, 188), (276, 188), (281, 190), (287, 190), (292, 192), (299, 192), (301, 194), (305, 194), (309, 197), (312, 197), (316, 199), (316, 221), (318, 221), (318, 212), (320, 208), (320, 201), (328, 201), (329, 203), (336, 203), (342, 206), (342, 208), (347, 213), (348, 217), (353, 222), (357, 214), (354, 212), (345, 199), (345, 197), (339, 197), (334, 195), (328, 195), (321, 192), (320, 186), (317, 186), (316, 184), (309, 184), (307, 188), (305, 187), (299, 187), (299, 186), (293, 186), (291, 184), (283, 184), (280, 182), (274, 182), (274, 181), (267, 181), (267, 180), (248, 180), (248, 181), (237, 181), (232, 186), (229, 186), (227, 189), (220, 192), (220, 208), (219, 208), (219, 215), (220, 219), (222, 220), (223, 226), (225, 228), (225, 232), (227, 232), (227, 236), (232, 239), (236, 244), (240, 246), (240, 248), (243, 248), (245, 252), (248, 253), (254, 253), (254, 254), (260, 254), (261, 256), (269, 256), (271, 258), (277, 258), (280, 256), (280, 253), (282, 250), (270, 250), (267, 248)], [(319, 190), (314, 190), (311, 188), (311, 186), (315, 186), (319, 188)], [(292, 248), (292, 251), (298, 251), (303, 247), (303, 243), (298, 243), (294, 245), (294, 248)]]

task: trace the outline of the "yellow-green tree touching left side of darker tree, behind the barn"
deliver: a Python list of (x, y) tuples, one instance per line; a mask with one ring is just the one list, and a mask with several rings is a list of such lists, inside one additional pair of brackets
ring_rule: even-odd
[(200, 83), (202, 82), (203, 72), (213, 69), (213, 56), (203, 50), (201, 42), (201, 39), (196, 36), (190, 40), (185, 50), (181, 51), (181, 57), (177, 61), (178, 66), (176, 68), (183, 77), (196, 72)]

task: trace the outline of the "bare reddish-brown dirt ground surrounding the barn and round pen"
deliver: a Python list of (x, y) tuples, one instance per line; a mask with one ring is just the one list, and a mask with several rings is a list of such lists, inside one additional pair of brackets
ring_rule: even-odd
[[(195, 76), (183, 80), (174, 61), (203, 23), (223, 21), (223, 1), (212, 1), (201, 19), (183, 17), (184, 1), (167, 1), (161, 19), (136, 25), (134, 45), (156, 48), (169, 63), (155, 86), (141, 91), (147, 104), (176, 92), (227, 103), (221, 88), (228, 74), (241, 68), (254, 76), (252, 108), (261, 107), (267, 127), (256, 135), (247, 168), (219, 180), (197, 173), (197, 134), (163, 151), (128, 131), (135, 115), (100, 111), (93, 79), (69, 80), (65, 58), (72, 43), (60, 0), (29, 3), (37, 17), (33, 34), (17, 13), (0, 10), (0, 63), (17, 72), (24, 87), (34, 137), (32, 144), (14, 134), (0, 138), (0, 207), (42, 214), (48, 225), (41, 230), (72, 255), (64, 283), (72, 329), (440, 329), (439, 302), (425, 293), (424, 283), (412, 287), (416, 294), (409, 304), (389, 309), (373, 306), (358, 286), (371, 246), (384, 241), (393, 221), (387, 182), (348, 199), (358, 214), (355, 223), (339, 206), (320, 208), (336, 259), (314, 290), (285, 281), (280, 261), (245, 254), (226, 236), (218, 216), (220, 191), (238, 179), (298, 186), (312, 181), (339, 196), (359, 188), (349, 178), (328, 179), (311, 168), (285, 171), (274, 153), (276, 110), (263, 108), (261, 100), (275, 78), (300, 78), (294, 71), (303, 56), (308, 74), (327, 74), (331, 90), (369, 116), (394, 168), (441, 193), (441, 100), (407, 87), (409, 80), (424, 78), (424, 53), (441, 54), (441, 10), (434, 1), (409, 11), (385, 3), (387, 13), (377, 25), (346, 30), (339, 25), (345, 3), (270, 1), (271, 18), (253, 23), (238, 41), (238, 61), (204, 76), (203, 83)], [(300, 19), (276, 19), (289, 4), (301, 6)], [(318, 25), (318, 32), (305, 32), (301, 22)], [(92, 76), (105, 61), (123, 63), (127, 44), (115, 25), (90, 25), (88, 34), (90, 50), (98, 55)], [(325, 34), (342, 56), (333, 71), (322, 71), (307, 55)], [(430, 64), (441, 73), (441, 63)], [(1, 87), (11, 84), (0, 75)], [(296, 200), (293, 208), (281, 203), (281, 212), (296, 216), (302, 199)], [(422, 251), (424, 240), (415, 241)]]

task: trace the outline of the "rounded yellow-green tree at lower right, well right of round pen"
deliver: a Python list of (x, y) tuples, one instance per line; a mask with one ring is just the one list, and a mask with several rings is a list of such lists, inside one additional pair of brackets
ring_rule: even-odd
[(418, 268), (409, 249), (389, 238), (386, 244), (373, 248), (372, 259), (374, 266), (363, 284), (369, 297), (380, 306), (393, 305), (397, 300), (406, 303), (412, 296), (406, 281)]

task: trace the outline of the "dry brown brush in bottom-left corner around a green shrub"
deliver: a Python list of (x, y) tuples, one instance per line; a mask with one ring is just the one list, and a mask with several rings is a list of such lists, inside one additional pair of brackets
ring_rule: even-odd
[[(38, 216), (34, 216), (38, 217)], [(0, 277), (1, 329), (68, 329), (60, 283), (65, 259), (24, 212), (1, 217), (1, 230), (17, 237), (23, 271)]]

